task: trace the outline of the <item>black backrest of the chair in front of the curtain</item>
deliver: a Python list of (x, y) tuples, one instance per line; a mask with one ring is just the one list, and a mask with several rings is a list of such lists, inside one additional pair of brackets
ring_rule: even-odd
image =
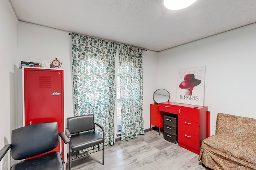
[(67, 118), (67, 128), (70, 134), (89, 131), (94, 129), (93, 114)]

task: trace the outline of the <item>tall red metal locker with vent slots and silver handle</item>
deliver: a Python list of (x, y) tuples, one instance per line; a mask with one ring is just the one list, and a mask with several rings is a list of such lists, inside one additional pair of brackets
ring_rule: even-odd
[[(24, 125), (58, 122), (59, 132), (64, 132), (63, 70), (23, 69)], [(54, 150), (60, 151), (59, 145)], [(63, 142), (61, 146), (64, 160)]]

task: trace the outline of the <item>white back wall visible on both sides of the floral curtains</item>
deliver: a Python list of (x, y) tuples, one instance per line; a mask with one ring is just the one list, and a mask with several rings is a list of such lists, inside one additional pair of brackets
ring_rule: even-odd
[[(156, 90), (157, 56), (153, 51), (143, 51), (144, 128), (150, 127), (150, 103)], [(72, 96), (71, 36), (68, 32), (26, 22), (18, 23), (18, 57), (20, 61), (42, 62), (58, 58), (64, 69), (64, 118), (74, 116)]]

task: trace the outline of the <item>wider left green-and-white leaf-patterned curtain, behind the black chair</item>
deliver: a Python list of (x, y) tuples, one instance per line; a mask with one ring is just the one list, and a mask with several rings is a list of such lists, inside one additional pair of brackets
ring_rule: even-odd
[[(116, 43), (72, 33), (74, 116), (94, 114), (114, 144)], [(96, 132), (101, 130), (96, 126)]]

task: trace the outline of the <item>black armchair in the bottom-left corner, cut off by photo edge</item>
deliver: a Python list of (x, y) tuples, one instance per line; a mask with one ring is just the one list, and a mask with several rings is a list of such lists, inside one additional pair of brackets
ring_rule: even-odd
[[(0, 160), (10, 149), (14, 160), (26, 159), (12, 165), (11, 170), (63, 170), (64, 162), (60, 152), (48, 152), (57, 147), (59, 136), (65, 144), (70, 143), (63, 132), (58, 133), (57, 122), (38, 123), (14, 129), (12, 143), (0, 150)], [(44, 154), (45, 152), (48, 153)], [(30, 158), (38, 154), (43, 155)]]

